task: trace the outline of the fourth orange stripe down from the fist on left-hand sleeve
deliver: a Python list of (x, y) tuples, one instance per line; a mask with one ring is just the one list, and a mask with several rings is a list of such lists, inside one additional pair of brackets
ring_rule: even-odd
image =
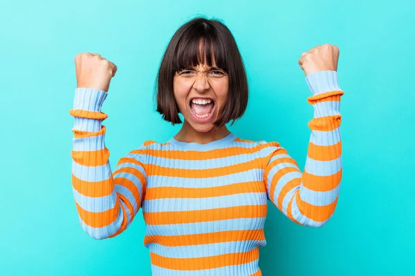
[(103, 181), (84, 181), (72, 174), (72, 186), (75, 190), (86, 197), (106, 197), (111, 195), (114, 189), (113, 179)]

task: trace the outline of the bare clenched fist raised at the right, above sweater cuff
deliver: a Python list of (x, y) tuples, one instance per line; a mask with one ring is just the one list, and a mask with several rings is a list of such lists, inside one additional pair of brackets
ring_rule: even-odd
[(326, 43), (303, 52), (298, 64), (306, 76), (324, 70), (337, 71), (339, 54), (338, 46)]

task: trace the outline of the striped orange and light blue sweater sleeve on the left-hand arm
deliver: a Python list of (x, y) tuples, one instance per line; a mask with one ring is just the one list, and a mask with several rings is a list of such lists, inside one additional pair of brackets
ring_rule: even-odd
[(94, 239), (114, 237), (131, 224), (142, 204), (146, 187), (139, 150), (122, 157), (111, 172), (106, 128), (101, 112), (107, 92), (75, 88), (72, 187), (80, 224)]

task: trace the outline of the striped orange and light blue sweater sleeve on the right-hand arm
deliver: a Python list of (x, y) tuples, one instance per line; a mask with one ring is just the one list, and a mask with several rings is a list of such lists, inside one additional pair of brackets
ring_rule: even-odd
[(335, 71), (314, 72), (306, 77), (314, 108), (308, 122), (311, 137), (306, 164), (301, 172), (297, 162), (279, 143), (265, 160), (264, 181), (268, 199), (297, 224), (321, 227), (331, 218), (338, 202), (342, 179), (340, 97)]

